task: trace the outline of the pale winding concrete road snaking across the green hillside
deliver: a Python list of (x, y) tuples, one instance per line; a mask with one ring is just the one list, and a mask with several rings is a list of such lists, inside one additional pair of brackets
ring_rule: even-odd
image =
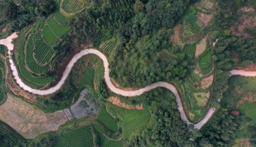
[[(9, 37), (7, 37), (6, 39), (1, 39), (0, 40), (0, 44), (3, 44), (8, 48), (9, 57), (11, 57), (11, 54), (12, 54), (11, 51), (14, 49), (14, 45), (11, 44), (12, 39), (14, 39), (16, 37), (18, 37), (18, 35), (16, 33), (13, 33)], [(123, 95), (123, 96), (137, 96), (137, 95), (141, 95), (142, 93), (144, 93), (146, 91), (154, 89), (156, 87), (165, 87), (165, 88), (169, 89), (171, 92), (173, 92), (174, 95), (176, 96), (178, 110), (181, 113), (181, 119), (184, 120), (187, 124), (193, 124), (186, 117), (185, 112), (184, 112), (183, 107), (182, 107), (182, 103), (181, 103), (181, 99), (179, 97), (179, 94), (178, 94), (176, 88), (173, 85), (171, 85), (169, 83), (166, 83), (166, 82), (157, 82), (157, 83), (153, 83), (150, 86), (146, 86), (144, 88), (141, 88), (139, 90), (134, 90), (134, 91), (121, 90), (121, 89), (115, 87), (112, 84), (112, 82), (110, 81), (108, 60), (107, 60), (107, 58), (105, 57), (105, 55), (103, 53), (101, 53), (100, 51), (98, 51), (96, 49), (85, 49), (85, 50), (82, 50), (81, 52), (79, 52), (78, 54), (76, 54), (72, 58), (72, 60), (69, 62), (69, 64), (67, 65), (59, 83), (57, 85), (55, 85), (54, 87), (51, 87), (47, 90), (33, 89), (33, 88), (27, 86), (26, 84), (24, 84), (22, 82), (22, 80), (20, 79), (20, 77), (18, 75), (18, 72), (17, 72), (17, 69), (16, 69), (16, 66), (14, 65), (14, 62), (11, 58), (9, 58), (9, 62), (10, 62), (10, 67), (11, 67), (11, 70), (12, 70), (12, 74), (14, 75), (14, 79), (16, 80), (16, 82), (18, 83), (18, 85), (20, 87), (22, 87), (24, 90), (27, 90), (27, 91), (29, 91), (31, 93), (34, 93), (34, 94), (48, 95), (48, 94), (56, 92), (57, 90), (59, 90), (62, 87), (62, 85), (64, 84), (65, 80), (67, 79), (67, 76), (68, 76), (69, 72), (71, 71), (75, 62), (77, 62), (77, 60), (79, 60), (82, 56), (87, 55), (87, 54), (95, 54), (98, 57), (100, 57), (100, 59), (103, 60), (103, 64), (104, 64), (104, 68), (105, 68), (105, 72), (104, 72), (105, 82), (106, 82), (107, 86), (109, 87), (109, 89), (111, 91), (113, 91), (114, 93), (119, 94), (119, 95)], [(232, 70), (231, 73), (232, 73), (232, 75), (256, 76), (256, 72), (245, 72), (245, 71), (241, 71), (241, 70)], [(215, 111), (214, 108), (210, 108), (208, 110), (207, 114), (204, 116), (204, 118), (199, 123), (194, 124), (194, 128), (200, 129), (211, 118), (214, 111)]]

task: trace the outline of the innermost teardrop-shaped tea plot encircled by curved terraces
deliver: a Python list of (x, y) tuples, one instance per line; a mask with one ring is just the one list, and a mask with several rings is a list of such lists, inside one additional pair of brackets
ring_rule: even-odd
[(41, 32), (39, 31), (35, 37), (35, 51), (34, 56), (37, 62), (45, 64), (49, 62), (54, 54), (54, 51), (48, 46), (41, 38)]

